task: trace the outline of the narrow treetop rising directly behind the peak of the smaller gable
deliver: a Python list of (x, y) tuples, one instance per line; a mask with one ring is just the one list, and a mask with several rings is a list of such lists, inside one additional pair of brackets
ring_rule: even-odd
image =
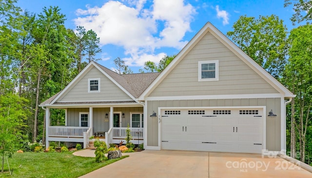
[(102, 52), (101, 48), (99, 48), (97, 33), (93, 30), (88, 30), (83, 36), (83, 41), (88, 62), (99, 60), (95, 58), (98, 53)]

